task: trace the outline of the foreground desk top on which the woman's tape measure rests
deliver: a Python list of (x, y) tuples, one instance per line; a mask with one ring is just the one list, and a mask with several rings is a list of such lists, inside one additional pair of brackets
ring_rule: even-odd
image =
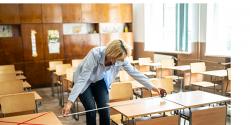
[[(161, 104), (163, 102), (163, 104)], [(128, 118), (182, 109), (183, 106), (160, 97), (150, 97), (110, 103), (110, 106)]]

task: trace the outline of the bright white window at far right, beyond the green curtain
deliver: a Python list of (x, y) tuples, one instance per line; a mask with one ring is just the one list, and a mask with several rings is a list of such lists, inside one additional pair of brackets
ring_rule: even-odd
[(232, 22), (226, 4), (207, 4), (206, 52), (211, 56), (230, 56)]

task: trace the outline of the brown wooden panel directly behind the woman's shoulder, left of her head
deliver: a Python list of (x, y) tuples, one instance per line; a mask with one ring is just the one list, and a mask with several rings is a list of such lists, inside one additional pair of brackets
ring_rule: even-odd
[(64, 35), (65, 58), (83, 58), (91, 48), (99, 45), (99, 34)]

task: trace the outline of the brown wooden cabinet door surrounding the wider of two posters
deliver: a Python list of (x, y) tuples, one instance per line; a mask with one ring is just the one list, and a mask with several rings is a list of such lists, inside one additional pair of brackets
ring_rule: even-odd
[[(49, 53), (48, 30), (58, 30), (59, 31), (60, 53)], [(63, 43), (63, 33), (62, 32), (63, 32), (62, 24), (43, 24), (45, 60), (63, 59), (64, 58), (64, 45), (63, 45), (64, 43)]]

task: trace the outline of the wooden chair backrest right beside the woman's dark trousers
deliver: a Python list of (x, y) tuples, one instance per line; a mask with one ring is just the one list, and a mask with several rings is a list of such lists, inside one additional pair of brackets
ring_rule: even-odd
[(109, 93), (111, 101), (130, 100), (133, 98), (133, 89), (130, 82), (115, 82)]

